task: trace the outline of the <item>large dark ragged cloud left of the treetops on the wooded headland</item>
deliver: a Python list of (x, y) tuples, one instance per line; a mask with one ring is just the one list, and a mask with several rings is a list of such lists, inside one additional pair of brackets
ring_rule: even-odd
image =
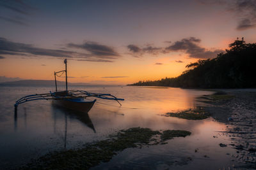
[(173, 45), (165, 48), (169, 52), (185, 52), (189, 54), (189, 57), (196, 59), (207, 59), (216, 57), (218, 53), (224, 52), (223, 50), (210, 51), (199, 45), (201, 39), (190, 37), (184, 38), (180, 41), (175, 41)]

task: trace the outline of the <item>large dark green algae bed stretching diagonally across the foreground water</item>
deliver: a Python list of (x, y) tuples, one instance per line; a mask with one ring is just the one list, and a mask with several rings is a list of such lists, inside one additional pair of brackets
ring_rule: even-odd
[[(148, 128), (133, 127), (118, 131), (109, 139), (89, 143), (84, 148), (51, 152), (20, 169), (89, 169), (100, 162), (108, 162), (114, 155), (126, 148), (140, 148), (147, 145), (166, 144), (174, 137), (186, 137), (188, 131), (152, 131)], [(159, 137), (160, 136), (160, 137)], [(159, 137), (159, 138), (157, 138)]]

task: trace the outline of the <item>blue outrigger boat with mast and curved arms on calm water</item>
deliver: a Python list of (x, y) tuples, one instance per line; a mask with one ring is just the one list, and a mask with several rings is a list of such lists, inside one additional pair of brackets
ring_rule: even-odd
[[(81, 112), (88, 112), (92, 108), (93, 104), (95, 103), (96, 99), (90, 100), (89, 97), (97, 97), (99, 99), (108, 99), (108, 100), (115, 100), (117, 101), (120, 106), (122, 104), (119, 101), (124, 101), (124, 99), (116, 98), (111, 94), (100, 94), (100, 93), (92, 93), (87, 92), (84, 90), (68, 90), (67, 85), (67, 59), (64, 60), (65, 63), (65, 70), (54, 72), (55, 78), (55, 88), (56, 92), (46, 93), (46, 94), (33, 94), (29, 96), (21, 97), (17, 100), (14, 104), (15, 112), (17, 112), (17, 106), (22, 103), (26, 103), (28, 101), (36, 101), (36, 100), (52, 100), (54, 103), (63, 106), (64, 108), (68, 108), (71, 110), (81, 111)], [(57, 89), (57, 81), (56, 76), (58, 73), (65, 73), (66, 75), (66, 90), (58, 91)]]

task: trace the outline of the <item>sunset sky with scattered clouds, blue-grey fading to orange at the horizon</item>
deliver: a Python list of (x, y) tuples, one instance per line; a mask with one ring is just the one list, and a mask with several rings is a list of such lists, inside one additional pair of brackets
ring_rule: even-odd
[(53, 80), (67, 59), (76, 83), (176, 77), (236, 38), (255, 43), (255, 11), (256, 0), (0, 0), (0, 76)]

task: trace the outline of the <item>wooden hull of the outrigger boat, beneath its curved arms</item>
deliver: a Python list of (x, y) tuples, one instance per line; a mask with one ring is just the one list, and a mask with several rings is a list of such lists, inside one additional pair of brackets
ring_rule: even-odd
[(91, 110), (94, 101), (85, 101), (85, 100), (73, 100), (73, 99), (60, 99), (54, 100), (52, 103), (62, 106), (64, 108), (68, 108), (70, 110), (81, 111), (88, 113)]

